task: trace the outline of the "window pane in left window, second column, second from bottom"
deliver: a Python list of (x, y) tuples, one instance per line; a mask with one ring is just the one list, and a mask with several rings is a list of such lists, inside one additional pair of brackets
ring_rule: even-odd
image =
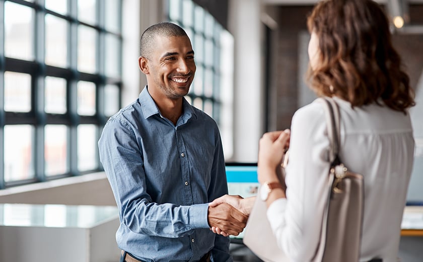
[(66, 113), (66, 80), (57, 77), (45, 77), (45, 107), (46, 113)]

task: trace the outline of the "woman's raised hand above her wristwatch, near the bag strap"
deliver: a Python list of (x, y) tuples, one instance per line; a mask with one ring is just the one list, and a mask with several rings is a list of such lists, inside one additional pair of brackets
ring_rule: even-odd
[(276, 168), (279, 168), (290, 145), (290, 130), (265, 133), (259, 142), (258, 181), (278, 181)]

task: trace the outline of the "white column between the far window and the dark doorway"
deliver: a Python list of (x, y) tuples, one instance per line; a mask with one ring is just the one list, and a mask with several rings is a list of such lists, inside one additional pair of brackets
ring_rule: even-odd
[(263, 122), (261, 5), (256, 0), (229, 2), (229, 31), (235, 39), (233, 161), (256, 162)]

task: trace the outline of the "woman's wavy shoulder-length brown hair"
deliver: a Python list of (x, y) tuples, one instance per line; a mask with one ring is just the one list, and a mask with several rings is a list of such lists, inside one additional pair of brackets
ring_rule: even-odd
[(377, 3), (323, 0), (307, 26), (319, 40), (319, 62), (308, 73), (317, 95), (338, 96), (353, 107), (377, 103), (404, 113), (415, 105), (388, 19)]

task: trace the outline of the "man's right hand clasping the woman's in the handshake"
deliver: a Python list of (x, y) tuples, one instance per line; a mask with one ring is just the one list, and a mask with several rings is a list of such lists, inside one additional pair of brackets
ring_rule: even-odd
[(239, 235), (244, 229), (247, 219), (247, 215), (226, 203), (216, 207), (208, 207), (208, 225), (220, 228), (229, 235)]

